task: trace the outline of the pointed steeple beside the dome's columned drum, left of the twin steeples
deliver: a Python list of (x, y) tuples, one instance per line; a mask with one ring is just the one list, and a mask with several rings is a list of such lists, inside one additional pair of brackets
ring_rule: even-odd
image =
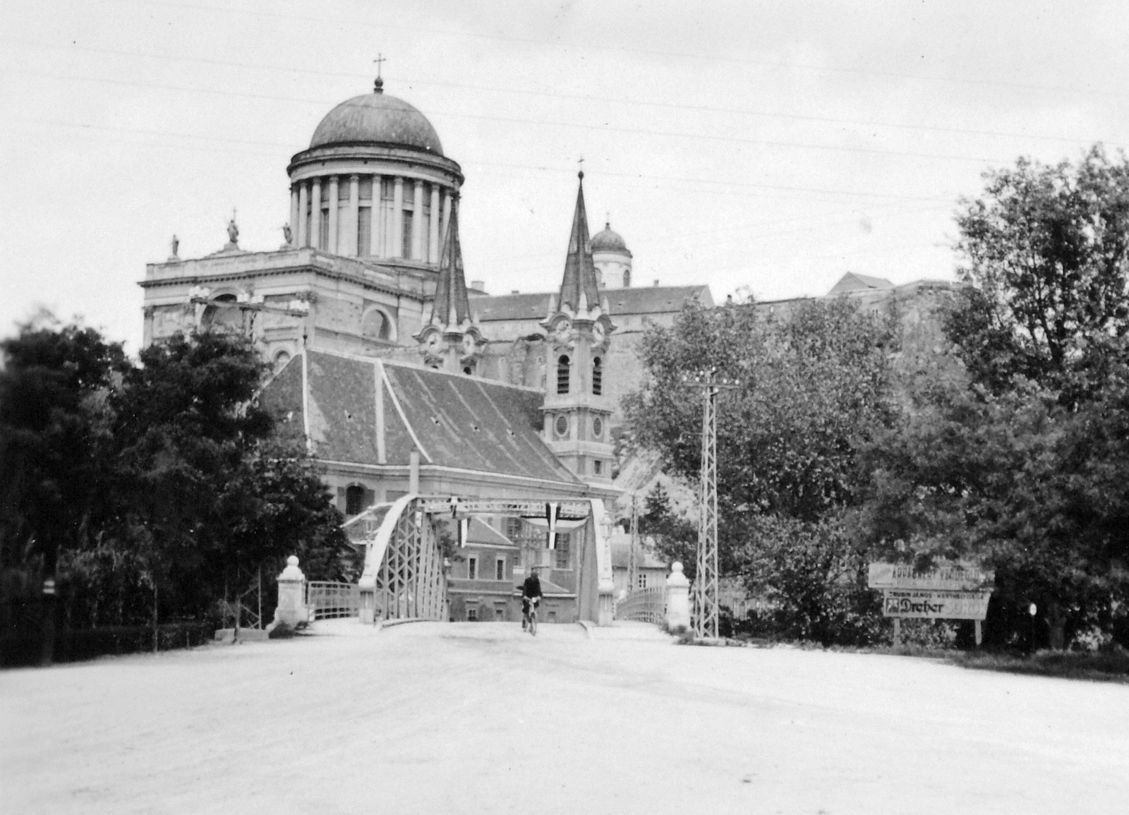
[(439, 261), (431, 317), (415, 335), (423, 363), (453, 374), (474, 374), (485, 348), (482, 332), (471, 314), (458, 244), (458, 198), (452, 201), (450, 219)]

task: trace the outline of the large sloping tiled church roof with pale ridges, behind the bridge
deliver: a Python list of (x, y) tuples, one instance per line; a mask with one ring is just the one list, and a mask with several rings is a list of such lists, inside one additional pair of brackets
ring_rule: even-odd
[[(261, 402), (303, 432), (308, 422), (315, 455), (327, 461), (379, 464), (376, 377), (382, 388), (385, 464), (406, 465), (412, 449), (422, 464), (579, 485), (541, 440), (542, 394), (502, 383), (427, 368), (306, 351), (263, 391)], [(304, 415), (304, 402), (308, 417)]]

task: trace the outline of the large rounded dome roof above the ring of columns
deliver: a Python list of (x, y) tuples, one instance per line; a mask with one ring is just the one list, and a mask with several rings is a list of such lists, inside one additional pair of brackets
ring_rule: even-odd
[(408, 147), (443, 156), (443, 144), (427, 117), (403, 99), (375, 93), (355, 96), (327, 114), (309, 140), (310, 149), (358, 142)]

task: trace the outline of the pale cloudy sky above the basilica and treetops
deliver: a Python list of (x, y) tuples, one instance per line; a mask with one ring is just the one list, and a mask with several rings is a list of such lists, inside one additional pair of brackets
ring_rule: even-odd
[(336, 103), (415, 105), (466, 175), (469, 279), (555, 288), (585, 158), (639, 284), (774, 299), (951, 278), (953, 210), (1019, 155), (1129, 138), (1123, 2), (0, 5), (0, 334), (141, 335), (146, 262), (275, 248)]

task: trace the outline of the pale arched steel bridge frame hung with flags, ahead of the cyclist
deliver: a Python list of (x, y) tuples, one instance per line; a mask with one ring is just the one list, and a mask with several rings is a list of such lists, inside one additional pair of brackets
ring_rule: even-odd
[[(552, 507), (552, 509), (550, 509)], [(611, 519), (599, 499), (574, 497), (488, 499), (408, 494), (369, 507), (345, 523), (357, 544), (365, 545), (359, 581), (360, 619), (448, 619), (447, 566), (436, 522), (474, 516), (509, 516), (570, 522), (583, 531), (578, 550), (577, 605), (581, 620), (610, 625), (613, 616)], [(579, 523), (578, 523), (579, 522)]]

